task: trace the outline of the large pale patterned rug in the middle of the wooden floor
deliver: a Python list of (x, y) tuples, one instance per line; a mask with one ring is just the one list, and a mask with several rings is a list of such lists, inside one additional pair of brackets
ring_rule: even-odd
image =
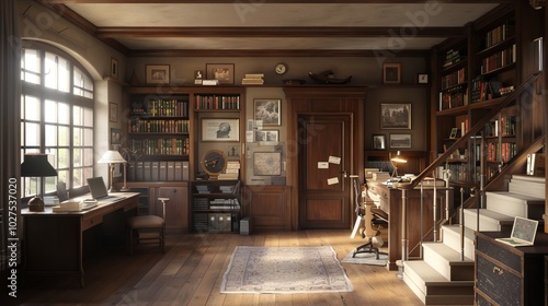
[(238, 246), (220, 285), (238, 294), (351, 291), (332, 247)]

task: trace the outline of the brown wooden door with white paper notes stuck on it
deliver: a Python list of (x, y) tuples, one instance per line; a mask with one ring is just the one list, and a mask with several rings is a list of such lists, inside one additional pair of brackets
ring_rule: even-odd
[(299, 226), (349, 228), (351, 115), (300, 115)]

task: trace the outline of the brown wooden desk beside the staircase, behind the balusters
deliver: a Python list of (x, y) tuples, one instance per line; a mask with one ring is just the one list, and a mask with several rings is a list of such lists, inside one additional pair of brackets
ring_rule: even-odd
[[(369, 191), (378, 196), (380, 200), (380, 209), (388, 213), (388, 269), (398, 270), (396, 264), (397, 260), (402, 259), (402, 191), (396, 188), (390, 188), (379, 181), (367, 180), (367, 186)], [(437, 210), (436, 220), (439, 220), (442, 215), (445, 215), (445, 199), (446, 190), (444, 188), (438, 188), (436, 192)], [(423, 215), (423, 242), (432, 240), (434, 237), (434, 208), (433, 198), (434, 192), (432, 188), (424, 188), (424, 200), (422, 208)], [(409, 256), (420, 257), (422, 256), (421, 250), (421, 189), (415, 188), (407, 191), (408, 204), (407, 204), (407, 229), (409, 239)], [(453, 189), (449, 189), (450, 201), (453, 202)], [(439, 208), (443, 208), (439, 209)], [(452, 208), (450, 208), (452, 209)], [(452, 212), (449, 212), (452, 213)]]

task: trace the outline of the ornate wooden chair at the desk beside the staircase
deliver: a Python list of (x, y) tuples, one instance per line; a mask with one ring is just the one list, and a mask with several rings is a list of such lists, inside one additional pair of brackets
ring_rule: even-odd
[[(358, 191), (358, 183), (354, 181), (354, 192), (356, 193), (356, 213), (358, 217), (364, 220), (365, 229), (362, 232), (362, 238), (367, 239), (367, 243), (358, 246), (352, 257), (354, 258), (356, 254), (362, 252), (375, 252), (377, 259), (379, 255), (387, 255), (386, 252), (379, 251), (379, 247), (384, 245), (380, 238), (380, 226), (388, 223), (388, 220), (373, 212), (375, 202), (367, 195), (367, 184), (362, 185), (362, 192)], [(375, 209), (377, 212), (381, 210)]]

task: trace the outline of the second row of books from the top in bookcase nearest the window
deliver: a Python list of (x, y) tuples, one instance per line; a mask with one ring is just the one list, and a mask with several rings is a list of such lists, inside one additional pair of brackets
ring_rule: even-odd
[(130, 150), (140, 155), (189, 155), (189, 138), (132, 139)]

